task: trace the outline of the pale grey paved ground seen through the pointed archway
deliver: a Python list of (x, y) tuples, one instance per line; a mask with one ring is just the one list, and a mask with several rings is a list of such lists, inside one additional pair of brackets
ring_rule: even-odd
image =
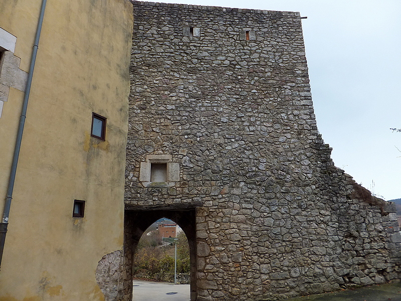
[(189, 284), (134, 280), (133, 301), (189, 301)]

